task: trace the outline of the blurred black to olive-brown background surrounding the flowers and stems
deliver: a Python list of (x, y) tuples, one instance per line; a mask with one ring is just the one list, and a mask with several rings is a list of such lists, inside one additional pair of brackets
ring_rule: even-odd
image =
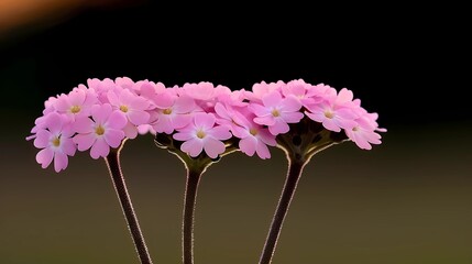
[[(273, 263), (472, 263), (466, 16), (283, 4), (1, 0), (0, 263), (138, 263), (105, 162), (78, 153), (56, 174), (24, 140), (50, 96), (122, 76), (350, 88), (380, 113), (384, 143), (312, 160)], [(155, 263), (179, 263), (185, 170), (152, 140), (127, 143), (123, 169)], [(197, 263), (257, 262), (285, 177), (285, 157), (272, 154), (237, 153), (207, 172)]]

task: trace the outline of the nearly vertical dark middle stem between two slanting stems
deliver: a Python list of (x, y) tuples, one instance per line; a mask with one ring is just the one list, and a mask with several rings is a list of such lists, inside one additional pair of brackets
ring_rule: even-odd
[(182, 249), (184, 264), (194, 264), (194, 223), (197, 189), (202, 172), (187, 168), (187, 185), (184, 198), (184, 215), (182, 223)]

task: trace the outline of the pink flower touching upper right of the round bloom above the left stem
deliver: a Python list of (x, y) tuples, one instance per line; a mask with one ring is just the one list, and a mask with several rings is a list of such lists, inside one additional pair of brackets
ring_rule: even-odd
[(124, 128), (127, 138), (136, 138), (136, 127), (150, 121), (150, 113), (145, 111), (150, 107), (149, 100), (132, 94), (128, 89), (108, 91), (108, 100), (114, 110), (120, 110), (128, 118), (129, 122)]

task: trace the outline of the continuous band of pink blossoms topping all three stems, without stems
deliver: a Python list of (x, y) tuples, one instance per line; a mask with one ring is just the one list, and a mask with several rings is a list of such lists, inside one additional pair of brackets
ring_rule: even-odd
[(329, 131), (344, 131), (364, 150), (380, 144), (376, 132), (385, 131), (378, 128), (377, 114), (363, 109), (345, 88), (338, 92), (298, 79), (232, 91), (205, 81), (165, 87), (123, 77), (88, 79), (87, 86), (50, 98), (28, 140), (34, 139), (41, 148), (37, 163), (45, 168), (54, 161), (56, 172), (67, 167), (77, 150), (90, 150), (92, 158), (106, 157), (124, 139), (149, 132), (172, 135), (191, 157), (205, 152), (215, 158), (224, 152), (224, 141), (234, 138), (241, 152), (268, 158), (276, 136), (304, 118)]

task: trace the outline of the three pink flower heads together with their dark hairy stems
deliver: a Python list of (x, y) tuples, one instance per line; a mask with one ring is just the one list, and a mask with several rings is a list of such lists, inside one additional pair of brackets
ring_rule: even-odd
[[(260, 263), (270, 263), (306, 163), (315, 153), (342, 141), (352, 141), (360, 148), (371, 150), (372, 144), (381, 143), (377, 132), (386, 131), (378, 128), (376, 120), (377, 114), (362, 108), (361, 100), (354, 99), (351, 90), (337, 91), (328, 85), (311, 85), (303, 79), (262, 81), (254, 84), (252, 90), (231, 90), (206, 81), (166, 87), (162, 82), (133, 81), (123, 77), (114, 81), (88, 79), (87, 86), (79, 85), (67, 95), (51, 97), (28, 140), (33, 140), (34, 146), (40, 148), (37, 163), (43, 168), (53, 163), (56, 172), (65, 169), (68, 157), (77, 151), (89, 151), (95, 160), (106, 158), (110, 174), (120, 175), (117, 179), (122, 179), (125, 190), (118, 158), (124, 141), (139, 134), (156, 135), (158, 146), (176, 154), (186, 164), (190, 172), (187, 177), (191, 177), (193, 167), (198, 168), (194, 169), (195, 194), (191, 197), (186, 194), (184, 215), (189, 215), (189, 223), (186, 226), (184, 221), (184, 237), (186, 227), (190, 233), (187, 243), (184, 241), (184, 248), (189, 248), (184, 249), (184, 263), (194, 261), (193, 210), (198, 179), (205, 169), (233, 151), (270, 158), (270, 146), (283, 148), (289, 167), (281, 202), (284, 202), (284, 195), (287, 200), (285, 206), (279, 204), (277, 207), (277, 211), (282, 211), (281, 215), (276, 211), (261, 256)], [(110, 163), (117, 163), (117, 166)], [(298, 175), (292, 180), (292, 187), (290, 175)], [(187, 182), (187, 187), (189, 184)], [(290, 188), (292, 193), (287, 193)], [(117, 188), (117, 193), (120, 191)], [(123, 202), (130, 201), (128, 194), (120, 199), (125, 210)], [(129, 207), (135, 218), (131, 201)], [(130, 223), (128, 216), (127, 219)], [(142, 237), (139, 226), (136, 228), (136, 235)], [(142, 263), (151, 263), (144, 240), (133, 239), (135, 243), (142, 240), (143, 249), (136, 249)]]

